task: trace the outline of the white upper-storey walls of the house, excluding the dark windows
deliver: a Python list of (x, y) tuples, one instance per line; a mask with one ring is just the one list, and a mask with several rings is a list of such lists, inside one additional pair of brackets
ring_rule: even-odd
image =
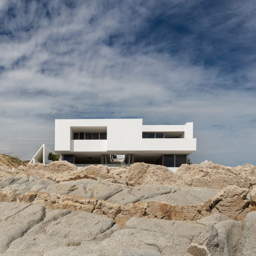
[[(107, 140), (73, 140), (72, 129), (93, 132), (106, 129)], [(90, 130), (91, 127), (91, 130)], [(104, 128), (106, 127), (106, 128)], [(183, 132), (179, 139), (142, 139), (142, 132)], [(57, 119), (55, 151), (60, 154), (82, 153), (162, 153), (190, 154), (196, 150), (193, 123), (185, 125), (142, 125), (142, 119)]]

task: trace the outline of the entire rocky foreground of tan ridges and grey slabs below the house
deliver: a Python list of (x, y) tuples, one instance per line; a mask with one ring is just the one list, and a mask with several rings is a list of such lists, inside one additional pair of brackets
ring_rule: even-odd
[(0, 166), (0, 255), (256, 255), (256, 166)]

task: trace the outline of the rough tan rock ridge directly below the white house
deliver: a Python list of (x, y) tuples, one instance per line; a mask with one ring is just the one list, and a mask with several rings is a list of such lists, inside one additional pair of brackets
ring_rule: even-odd
[(55, 161), (46, 164), (30, 164), (8, 169), (0, 166), (0, 176), (10, 177), (25, 174), (48, 178), (56, 182), (78, 180), (83, 178), (107, 180), (129, 186), (138, 185), (168, 185), (193, 186), (222, 189), (229, 185), (236, 185), (251, 190), (256, 187), (256, 166), (223, 166), (208, 162), (204, 165), (183, 164), (176, 173), (165, 166), (135, 163), (130, 167), (121, 166), (108, 168), (103, 165), (91, 165), (80, 169), (66, 161)]

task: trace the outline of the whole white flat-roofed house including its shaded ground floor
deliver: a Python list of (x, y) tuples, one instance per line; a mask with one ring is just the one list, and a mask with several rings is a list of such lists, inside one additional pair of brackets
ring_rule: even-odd
[(193, 123), (143, 125), (142, 119), (56, 119), (55, 151), (62, 160), (71, 162), (74, 155), (78, 166), (112, 164), (114, 155), (123, 155), (126, 164), (172, 165), (167, 167), (175, 171), (184, 156), (196, 151), (196, 139)]

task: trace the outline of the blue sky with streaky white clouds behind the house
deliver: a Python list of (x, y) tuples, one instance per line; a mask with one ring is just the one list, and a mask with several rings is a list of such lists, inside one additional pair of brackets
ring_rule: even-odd
[(0, 0), (0, 153), (54, 119), (194, 122), (192, 163), (256, 165), (255, 1)]

